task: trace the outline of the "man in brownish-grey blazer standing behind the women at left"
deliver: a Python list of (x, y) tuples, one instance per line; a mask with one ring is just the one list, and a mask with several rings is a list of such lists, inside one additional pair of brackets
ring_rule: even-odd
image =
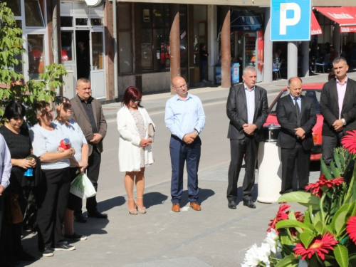
[[(91, 96), (90, 81), (87, 78), (77, 80), (77, 95), (70, 100), (72, 105), (71, 118), (75, 120), (83, 131), (85, 139), (89, 145), (89, 158), (87, 176), (98, 192), (98, 178), (100, 171), (101, 153), (103, 152), (103, 139), (106, 135), (105, 117), (100, 101)], [(106, 214), (101, 214), (97, 209), (96, 197), (87, 199), (87, 211), (89, 217), (107, 218)], [(75, 211), (74, 220), (86, 222), (82, 211)]]

